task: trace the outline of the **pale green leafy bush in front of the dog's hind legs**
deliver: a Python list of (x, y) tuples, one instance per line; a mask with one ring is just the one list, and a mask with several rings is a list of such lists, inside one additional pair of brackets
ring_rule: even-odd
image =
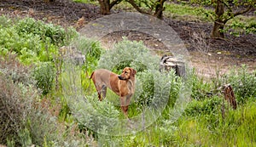
[[(79, 122), (81, 131), (88, 131), (95, 138), (98, 133), (113, 134), (112, 128), (119, 127), (119, 110), (116, 110), (112, 103), (107, 100), (99, 103), (95, 96), (83, 99), (67, 99), (73, 116)], [(121, 130), (121, 129), (120, 129)]]

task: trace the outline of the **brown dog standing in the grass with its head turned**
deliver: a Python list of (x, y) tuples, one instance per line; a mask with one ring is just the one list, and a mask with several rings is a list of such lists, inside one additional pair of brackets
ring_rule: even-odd
[(107, 88), (119, 95), (121, 109), (127, 116), (128, 106), (132, 94), (135, 92), (135, 74), (136, 70), (131, 67), (125, 67), (121, 75), (111, 71), (99, 69), (92, 72), (90, 78), (95, 84), (99, 100), (106, 97)]

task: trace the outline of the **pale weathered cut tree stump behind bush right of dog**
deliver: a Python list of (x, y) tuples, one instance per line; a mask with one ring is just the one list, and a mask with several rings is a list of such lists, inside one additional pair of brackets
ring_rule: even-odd
[(171, 71), (173, 69), (177, 76), (186, 76), (185, 63), (173, 56), (164, 55), (160, 59), (160, 71)]

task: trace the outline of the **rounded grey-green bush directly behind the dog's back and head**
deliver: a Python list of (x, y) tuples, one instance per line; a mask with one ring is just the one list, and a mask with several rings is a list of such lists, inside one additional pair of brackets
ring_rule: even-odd
[(124, 38), (114, 48), (102, 54), (98, 68), (120, 73), (125, 66), (133, 67), (137, 72), (159, 70), (159, 57), (150, 54), (143, 42), (131, 42)]

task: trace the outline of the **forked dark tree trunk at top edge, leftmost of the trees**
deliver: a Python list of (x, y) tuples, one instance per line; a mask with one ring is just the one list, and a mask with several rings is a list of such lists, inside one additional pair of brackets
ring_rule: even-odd
[(119, 4), (122, 2), (122, 0), (98, 0), (100, 3), (100, 14), (110, 14), (111, 8), (113, 8), (114, 5)]

